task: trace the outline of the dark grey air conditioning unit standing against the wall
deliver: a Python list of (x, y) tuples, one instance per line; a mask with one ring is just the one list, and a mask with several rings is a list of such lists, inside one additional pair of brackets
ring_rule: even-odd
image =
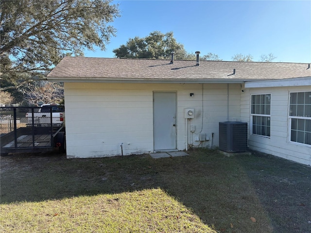
[(247, 122), (219, 122), (219, 149), (226, 152), (247, 150)]

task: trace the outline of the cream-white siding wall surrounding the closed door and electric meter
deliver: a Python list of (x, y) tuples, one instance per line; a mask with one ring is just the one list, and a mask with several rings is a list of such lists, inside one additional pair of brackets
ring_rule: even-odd
[[(188, 143), (218, 146), (218, 123), (241, 120), (241, 84), (229, 84), (229, 108), (227, 87), (227, 84), (65, 83), (67, 157), (121, 155), (121, 143), (124, 155), (153, 152), (154, 91), (177, 93), (178, 150), (186, 148), (184, 109), (189, 107), (194, 108), (194, 119), (188, 122)], [(190, 97), (190, 93), (194, 95)], [(194, 133), (190, 133), (190, 125), (195, 126)], [(195, 141), (199, 133), (206, 133), (209, 140), (201, 144)]]

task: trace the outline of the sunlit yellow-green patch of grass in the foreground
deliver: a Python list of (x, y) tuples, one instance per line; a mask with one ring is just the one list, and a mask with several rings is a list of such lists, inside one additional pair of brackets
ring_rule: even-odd
[(2, 232), (202, 232), (198, 216), (160, 188), (1, 206)]

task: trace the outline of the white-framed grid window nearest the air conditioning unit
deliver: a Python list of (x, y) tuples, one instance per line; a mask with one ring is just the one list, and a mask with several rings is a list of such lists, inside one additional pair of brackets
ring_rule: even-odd
[(252, 134), (270, 137), (271, 94), (251, 96)]

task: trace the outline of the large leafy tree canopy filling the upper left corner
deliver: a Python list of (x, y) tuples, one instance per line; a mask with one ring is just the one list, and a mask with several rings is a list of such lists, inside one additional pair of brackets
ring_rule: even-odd
[(112, 0), (0, 1), (1, 87), (43, 77), (65, 55), (102, 50), (119, 17)]

